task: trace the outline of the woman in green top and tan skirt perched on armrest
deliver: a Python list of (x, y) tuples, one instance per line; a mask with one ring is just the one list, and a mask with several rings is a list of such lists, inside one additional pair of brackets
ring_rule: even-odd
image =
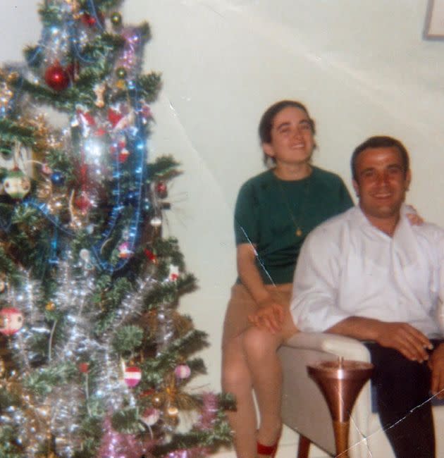
[(312, 166), (314, 133), (300, 102), (273, 104), (259, 123), (265, 159), (273, 166), (245, 182), (235, 208), (239, 277), (224, 323), (222, 385), (237, 400), (228, 418), (242, 458), (276, 454), (282, 428), (276, 350), (297, 332), (289, 304), (302, 242), (316, 225), (352, 206), (338, 175)]

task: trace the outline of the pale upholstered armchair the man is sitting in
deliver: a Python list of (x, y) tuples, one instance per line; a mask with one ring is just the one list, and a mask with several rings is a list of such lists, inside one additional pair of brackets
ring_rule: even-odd
[[(327, 333), (297, 333), (279, 349), (283, 364), (283, 423), (300, 434), (298, 458), (309, 456), (309, 443), (335, 456), (333, 425), (326, 401), (307, 374), (307, 364), (338, 357), (370, 361), (366, 347), (351, 338)], [(435, 425), (444, 425), (444, 406), (433, 407)], [(436, 429), (436, 456), (444, 457), (444, 438)], [(357, 398), (350, 419), (351, 458), (393, 457), (378, 415), (371, 411), (370, 383)]]

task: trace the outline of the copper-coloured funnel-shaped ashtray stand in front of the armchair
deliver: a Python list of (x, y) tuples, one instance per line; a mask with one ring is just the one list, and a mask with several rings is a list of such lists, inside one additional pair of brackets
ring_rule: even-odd
[(350, 414), (357, 395), (373, 373), (373, 364), (363, 361), (321, 361), (309, 364), (309, 376), (321, 389), (330, 409), (335, 433), (336, 456), (348, 457)]

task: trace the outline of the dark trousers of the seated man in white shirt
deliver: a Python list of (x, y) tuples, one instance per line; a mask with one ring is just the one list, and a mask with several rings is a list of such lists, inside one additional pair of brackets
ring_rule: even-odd
[[(442, 341), (441, 341), (442, 342)], [(433, 342), (436, 345), (440, 342)], [(375, 366), (378, 414), (397, 458), (435, 457), (435, 431), (427, 363), (409, 361), (395, 349), (365, 342)]]

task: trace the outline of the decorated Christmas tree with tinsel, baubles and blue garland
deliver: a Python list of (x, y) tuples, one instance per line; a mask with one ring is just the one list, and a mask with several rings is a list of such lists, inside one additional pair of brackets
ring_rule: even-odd
[(162, 237), (179, 164), (149, 158), (161, 78), (142, 74), (149, 25), (125, 26), (119, 3), (45, 1), (39, 43), (0, 71), (4, 458), (202, 457), (230, 440), (231, 400), (187, 390), (206, 335), (178, 312), (196, 280)]

